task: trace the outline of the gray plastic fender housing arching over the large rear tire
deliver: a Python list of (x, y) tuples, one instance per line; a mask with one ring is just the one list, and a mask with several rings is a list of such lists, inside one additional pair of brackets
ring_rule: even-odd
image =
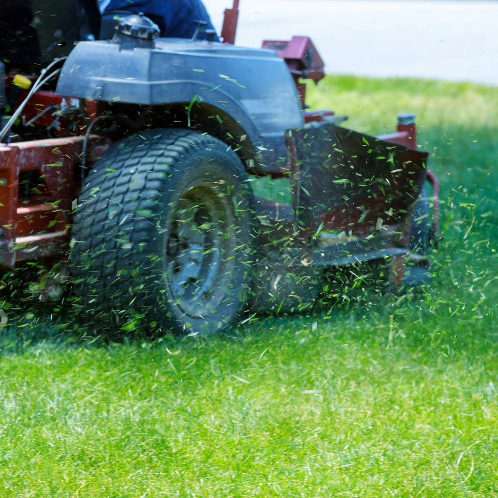
[(144, 106), (188, 105), (197, 96), (240, 125), (257, 154), (256, 171), (283, 165), (285, 130), (304, 125), (284, 60), (272, 50), (216, 42), (159, 38), (154, 48), (133, 50), (80, 42), (64, 63), (57, 93)]

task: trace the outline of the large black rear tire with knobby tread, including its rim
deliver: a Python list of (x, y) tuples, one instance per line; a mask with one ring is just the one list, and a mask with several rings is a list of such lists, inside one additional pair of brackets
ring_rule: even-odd
[(112, 330), (219, 332), (241, 316), (255, 248), (254, 197), (233, 150), (153, 129), (92, 168), (74, 224), (77, 305)]

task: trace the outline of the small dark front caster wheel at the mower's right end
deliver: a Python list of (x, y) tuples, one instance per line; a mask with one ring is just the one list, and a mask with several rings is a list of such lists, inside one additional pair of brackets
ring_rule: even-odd
[(432, 240), (432, 226), (429, 216), (429, 194), (427, 184), (424, 184), (411, 217), (411, 257), (406, 267), (405, 287), (420, 287), (431, 282), (427, 257)]

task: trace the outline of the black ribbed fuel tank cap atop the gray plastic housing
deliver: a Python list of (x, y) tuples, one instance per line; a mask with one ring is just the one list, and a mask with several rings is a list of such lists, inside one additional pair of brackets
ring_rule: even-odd
[(157, 24), (143, 15), (143, 12), (123, 17), (115, 29), (112, 43), (120, 44), (125, 50), (153, 48), (160, 34)]

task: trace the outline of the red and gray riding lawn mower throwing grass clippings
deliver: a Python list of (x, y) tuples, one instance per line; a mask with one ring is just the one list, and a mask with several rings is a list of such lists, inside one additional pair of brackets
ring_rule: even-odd
[(309, 310), (359, 262), (387, 261), (391, 289), (429, 282), (415, 117), (373, 137), (307, 110), (311, 39), (236, 46), (238, 3), (215, 42), (200, 20), (160, 38), (95, 0), (3, 1), (0, 263), (43, 268), (24, 301), (66, 292), (102, 330), (196, 335)]

